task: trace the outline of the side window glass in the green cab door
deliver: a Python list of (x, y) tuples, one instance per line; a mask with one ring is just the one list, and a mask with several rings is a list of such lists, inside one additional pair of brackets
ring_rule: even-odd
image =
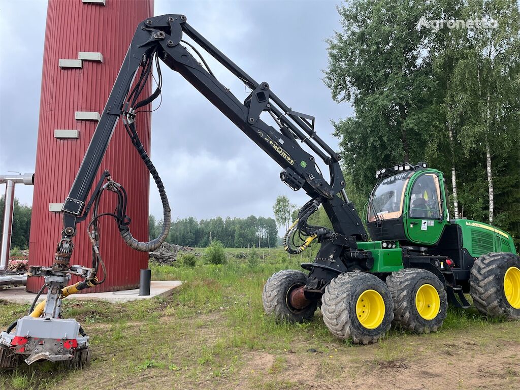
[(433, 173), (419, 176), (410, 194), (410, 218), (440, 219), (439, 177)]

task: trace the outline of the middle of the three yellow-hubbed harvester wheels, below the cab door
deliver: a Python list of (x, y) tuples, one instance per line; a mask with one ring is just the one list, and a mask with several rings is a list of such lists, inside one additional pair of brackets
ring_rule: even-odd
[(432, 272), (406, 268), (386, 278), (394, 301), (394, 325), (416, 333), (435, 332), (446, 319), (443, 283)]

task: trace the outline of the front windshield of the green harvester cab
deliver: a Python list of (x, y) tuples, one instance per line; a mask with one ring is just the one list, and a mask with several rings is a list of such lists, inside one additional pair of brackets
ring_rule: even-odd
[(412, 174), (413, 171), (387, 177), (374, 188), (368, 206), (368, 222), (401, 216), (406, 184)]

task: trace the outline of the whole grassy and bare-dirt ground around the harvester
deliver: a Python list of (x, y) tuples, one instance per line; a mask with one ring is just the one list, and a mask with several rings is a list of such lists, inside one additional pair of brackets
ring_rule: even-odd
[[(153, 267), (154, 279), (186, 281), (168, 298), (125, 304), (67, 298), (64, 317), (76, 318), (90, 335), (92, 365), (22, 366), (2, 373), (0, 388), (518, 388), (518, 322), (450, 309), (435, 334), (392, 329), (379, 344), (353, 346), (330, 335), (319, 310), (305, 324), (266, 318), (267, 278), (307, 259), (289, 259), (280, 249), (261, 249), (260, 258), (251, 252), (226, 249), (227, 265), (202, 264), (198, 256), (194, 268)], [(27, 309), (0, 301), (2, 328)]]

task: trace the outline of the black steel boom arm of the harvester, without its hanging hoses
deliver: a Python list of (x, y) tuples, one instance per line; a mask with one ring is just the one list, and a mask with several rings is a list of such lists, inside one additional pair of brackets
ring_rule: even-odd
[[(183, 32), (253, 89), (244, 103), (220, 84), (201, 63), (191, 56), (187, 48), (180, 44)], [(314, 118), (292, 111), (271, 92), (267, 83), (257, 83), (194, 30), (186, 22), (184, 15), (163, 15), (147, 19), (138, 25), (85, 158), (69, 196), (64, 202), (65, 228), (75, 227), (75, 223), (69, 218), (70, 215), (75, 217), (82, 215), (87, 194), (93, 185), (115, 124), (119, 116), (131, 110), (123, 106), (134, 76), (144, 63), (144, 59), (155, 51), (168, 67), (185, 77), (255, 144), (284, 168), (281, 173), (284, 183), (294, 190), (303, 188), (310, 197), (322, 198), (324, 206), (332, 203), (332, 208), (326, 206), (326, 210), (337, 233), (359, 236), (359, 238), (366, 236), (359, 217), (352, 212), (353, 207), (345, 202), (335, 201), (336, 194), (342, 192), (345, 186), (339, 164), (340, 156), (316, 135)], [(275, 116), (280, 125), (278, 130), (259, 119), (262, 111)], [(309, 123), (309, 119), (312, 122)], [(331, 183), (324, 180), (316, 169), (314, 157), (304, 151), (297, 140), (305, 142), (329, 165)]]

